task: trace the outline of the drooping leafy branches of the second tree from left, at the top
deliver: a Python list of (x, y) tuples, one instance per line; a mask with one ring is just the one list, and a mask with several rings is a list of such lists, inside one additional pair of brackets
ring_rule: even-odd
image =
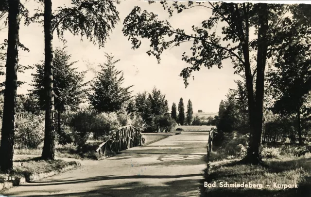
[[(75, 36), (86, 36), (94, 44), (103, 47), (109, 33), (120, 21), (115, 3), (119, 1), (72, 0), (70, 7), (57, 7), (52, 14), (52, 32), (56, 30), (58, 38), (65, 41), (64, 32), (68, 30)], [(43, 23), (43, 6), (36, 11), (35, 15), (27, 18), (26, 24)]]

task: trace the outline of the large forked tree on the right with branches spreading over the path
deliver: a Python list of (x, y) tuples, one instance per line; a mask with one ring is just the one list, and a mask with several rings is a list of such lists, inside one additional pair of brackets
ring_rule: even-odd
[[(268, 91), (265, 88), (266, 71), (270, 66), (276, 66), (283, 73), (288, 65), (300, 67), (304, 64), (310, 71), (310, 36), (306, 36), (310, 35), (311, 30), (310, 5), (194, 1), (176, 1), (173, 4), (161, 1), (161, 4), (170, 16), (198, 7), (210, 10), (212, 15), (199, 21), (201, 26), (192, 26), (193, 32), (190, 33), (136, 6), (124, 20), (123, 34), (131, 40), (133, 48), (140, 46), (140, 38), (149, 39), (152, 48), (147, 54), (154, 55), (159, 62), (166, 49), (192, 42), (191, 53), (185, 51), (182, 54), (182, 60), (190, 64), (180, 73), (186, 87), (194, 71), (199, 71), (203, 66), (222, 68), (223, 61), (230, 60), (235, 74), (244, 79), (246, 90), (244, 96), (250, 143), (241, 163), (262, 164), (263, 105), (264, 93)], [(221, 33), (216, 33), (217, 27), (222, 29)], [(253, 32), (254, 38), (250, 36)], [(299, 58), (300, 54), (305, 58)], [(309, 92), (310, 72), (298, 84), (303, 87), (301, 92)], [(287, 87), (284, 83), (282, 85)]]

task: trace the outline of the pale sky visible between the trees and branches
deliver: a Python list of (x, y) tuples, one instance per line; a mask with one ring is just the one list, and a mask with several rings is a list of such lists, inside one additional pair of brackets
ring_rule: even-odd
[[(55, 9), (64, 3), (69, 5), (70, 0), (53, 0), (52, 2), (53, 9)], [(33, 1), (26, 4), (30, 10), (35, 9), (37, 5)], [(134, 85), (131, 89), (134, 94), (151, 91), (153, 87), (156, 87), (166, 94), (169, 106), (172, 106), (173, 102), (178, 104), (182, 97), (185, 106), (187, 106), (188, 100), (191, 100), (194, 112), (199, 109), (204, 112), (218, 112), (219, 103), (225, 99), (228, 90), (236, 88), (234, 80), (240, 79), (240, 76), (234, 75), (231, 61), (224, 61), (221, 69), (204, 67), (195, 72), (194, 80), (190, 80), (190, 85), (186, 89), (179, 74), (189, 64), (181, 60), (181, 55), (184, 51), (189, 52), (191, 44), (182, 44), (164, 51), (160, 64), (157, 63), (154, 56), (147, 55), (146, 51), (150, 49), (148, 40), (143, 40), (140, 48), (133, 50), (131, 42), (122, 33), (122, 23), (135, 6), (154, 12), (160, 19), (168, 18), (167, 12), (159, 3), (149, 5), (147, 1), (126, 0), (117, 5), (120, 22), (110, 33), (110, 39), (107, 40), (104, 48), (93, 45), (86, 38), (82, 41), (79, 36), (73, 36), (69, 32), (65, 33), (66, 50), (71, 55), (71, 61), (78, 61), (75, 64), (78, 70), (89, 70), (85, 80), (89, 81), (94, 77), (94, 70), (98, 70), (97, 65), (105, 61), (104, 53), (106, 52), (112, 54), (116, 60), (120, 59), (116, 68), (124, 73), (124, 86)], [(197, 7), (181, 14), (175, 14), (168, 20), (175, 29), (185, 29), (186, 32), (190, 32), (192, 25), (200, 26), (201, 22), (210, 15), (210, 10)], [(221, 27), (218, 27), (216, 32), (220, 34)], [(0, 40), (5, 39), (6, 36), (7, 31), (0, 32)], [(19, 36), (20, 42), (30, 49), (30, 52), (19, 52), (20, 64), (34, 65), (44, 60), (44, 33), (41, 24), (21, 25)], [(53, 47), (64, 46), (64, 43), (57, 38), (56, 32), (53, 37)], [(25, 85), (18, 88), (18, 94), (28, 93), (28, 90), (32, 89), (29, 83), (32, 81), (31, 73), (34, 72), (34, 70), (28, 70), (24, 74), (18, 74), (18, 80), (26, 82)]]

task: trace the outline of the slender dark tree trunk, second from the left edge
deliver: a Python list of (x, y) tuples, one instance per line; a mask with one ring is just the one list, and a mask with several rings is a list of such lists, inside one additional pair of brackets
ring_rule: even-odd
[(52, 49), (52, 0), (44, 0), (44, 89), (45, 100), (45, 129), (43, 159), (54, 159), (55, 131), (54, 131), (54, 93), (53, 93), (53, 49)]

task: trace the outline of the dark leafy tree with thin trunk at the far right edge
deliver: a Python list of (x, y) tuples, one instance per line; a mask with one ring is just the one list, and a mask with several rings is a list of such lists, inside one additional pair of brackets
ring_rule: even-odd
[[(308, 58), (311, 46), (307, 38), (293, 37), (291, 44), (278, 51), (277, 62), (268, 75), (268, 81), (275, 98), (272, 111), (287, 117), (296, 115), (299, 144), (303, 143), (301, 118), (310, 115), (310, 87), (304, 84), (311, 80), (311, 61)], [(309, 114), (308, 114), (309, 112)]]

